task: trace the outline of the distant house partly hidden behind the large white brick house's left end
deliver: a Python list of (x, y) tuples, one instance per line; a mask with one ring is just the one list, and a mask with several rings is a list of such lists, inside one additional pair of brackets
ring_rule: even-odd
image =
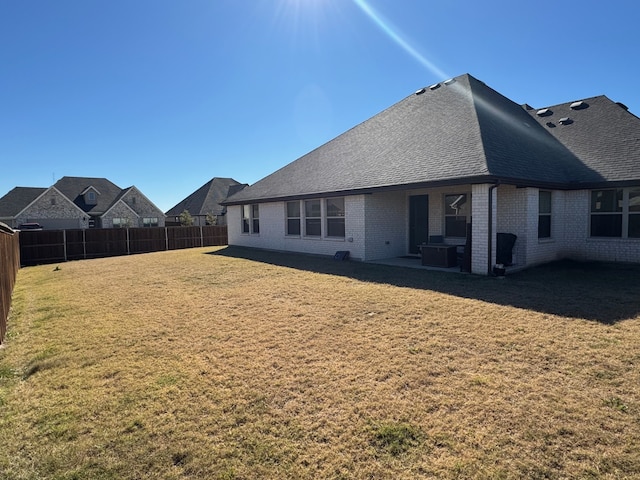
[(220, 202), (246, 186), (233, 178), (214, 177), (169, 209), (165, 213), (167, 224), (180, 225), (180, 214), (186, 210), (196, 226), (207, 225), (210, 221), (215, 222), (214, 225), (226, 225), (227, 207), (220, 205)]

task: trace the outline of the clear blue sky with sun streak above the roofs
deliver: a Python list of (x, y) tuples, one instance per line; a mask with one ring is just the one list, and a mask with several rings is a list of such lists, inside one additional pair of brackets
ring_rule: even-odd
[(638, 19), (635, 0), (0, 0), (0, 196), (106, 177), (166, 211), (463, 73), (640, 115)]

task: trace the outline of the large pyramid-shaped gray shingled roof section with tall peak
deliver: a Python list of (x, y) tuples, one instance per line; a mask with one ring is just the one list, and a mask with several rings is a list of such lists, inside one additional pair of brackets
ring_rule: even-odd
[(224, 203), (487, 181), (566, 187), (576, 178), (602, 180), (520, 105), (461, 75), (409, 95)]

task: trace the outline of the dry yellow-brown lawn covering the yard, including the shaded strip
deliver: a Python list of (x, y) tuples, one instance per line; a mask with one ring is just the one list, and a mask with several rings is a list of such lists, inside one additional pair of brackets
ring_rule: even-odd
[(639, 278), (220, 247), (23, 268), (0, 477), (640, 478)]

